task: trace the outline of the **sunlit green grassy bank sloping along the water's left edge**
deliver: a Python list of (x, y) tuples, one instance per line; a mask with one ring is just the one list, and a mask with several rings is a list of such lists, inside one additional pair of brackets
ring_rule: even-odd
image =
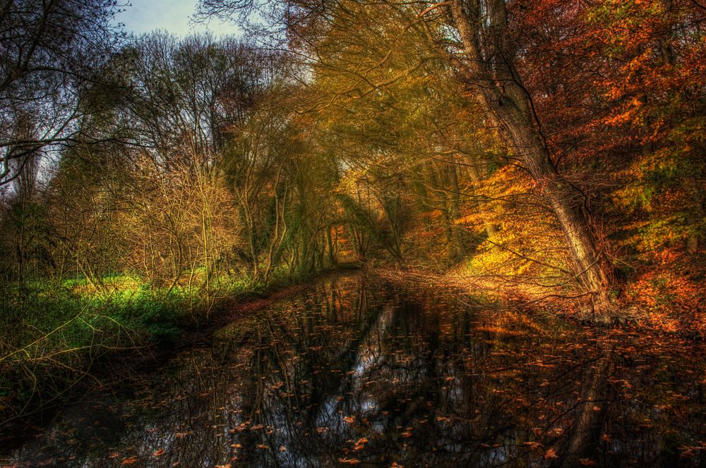
[(210, 290), (155, 288), (128, 276), (33, 281), (6, 287), (0, 316), (0, 429), (42, 407), (71, 398), (78, 383), (100, 374), (108, 359), (156, 347), (169, 350), (184, 333), (208, 327), (239, 303), (306, 277), (275, 276), (268, 285), (221, 278)]

